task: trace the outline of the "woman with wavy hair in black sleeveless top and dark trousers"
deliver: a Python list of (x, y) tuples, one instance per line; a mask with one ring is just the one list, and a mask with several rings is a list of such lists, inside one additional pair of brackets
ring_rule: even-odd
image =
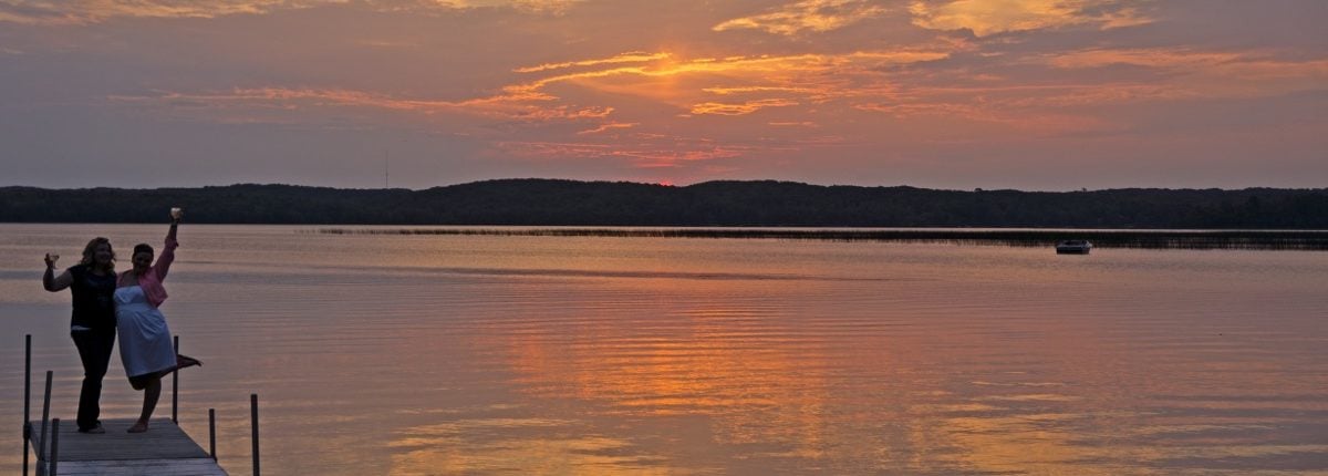
[(82, 261), (56, 277), (56, 259), (46, 255), (46, 274), (41, 283), (46, 291), (69, 289), (73, 294), (73, 319), (69, 335), (78, 347), (84, 364), (82, 391), (78, 394), (78, 431), (105, 433), (101, 415), (101, 379), (110, 364), (116, 346), (116, 251), (106, 238), (93, 238), (84, 247)]

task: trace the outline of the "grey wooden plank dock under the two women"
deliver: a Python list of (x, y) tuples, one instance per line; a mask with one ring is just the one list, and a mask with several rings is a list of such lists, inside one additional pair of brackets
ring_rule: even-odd
[[(57, 475), (226, 475), (212, 457), (170, 419), (154, 419), (145, 433), (129, 433), (133, 419), (102, 420), (102, 435), (80, 433), (73, 421), (61, 421)], [(41, 421), (32, 421), (32, 448), (39, 447)], [(48, 449), (49, 452), (49, 449)], [(46, 475), (50, 461), (37, 461), (37, 473)]]

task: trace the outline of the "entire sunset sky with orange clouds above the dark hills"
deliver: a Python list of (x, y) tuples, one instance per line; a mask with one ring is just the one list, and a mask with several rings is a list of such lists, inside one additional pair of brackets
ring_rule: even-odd
[(1321, 0), (0, 0), (0, 186), (1328, 186)]

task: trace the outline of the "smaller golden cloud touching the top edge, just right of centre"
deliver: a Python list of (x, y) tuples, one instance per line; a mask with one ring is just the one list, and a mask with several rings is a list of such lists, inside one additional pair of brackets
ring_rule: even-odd
[(712, 29), (760, 29), (793, 36), (803, 31), (829, 32), (883, 13), (886, 8), (865, 0), (802, 0), (769, 13), (728, 20)]

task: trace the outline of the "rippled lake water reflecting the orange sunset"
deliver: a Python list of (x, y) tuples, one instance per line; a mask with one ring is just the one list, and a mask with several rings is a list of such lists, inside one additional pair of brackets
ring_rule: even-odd
[[(232, 475), (251, 392), (272, 475), (1328, 473), (1328, 253), (299, 230), (181, 230), (181, 424)], [(24, 334), (74, 416), (41, 255), (165, 231), (0, 225), (0, 472)]]

